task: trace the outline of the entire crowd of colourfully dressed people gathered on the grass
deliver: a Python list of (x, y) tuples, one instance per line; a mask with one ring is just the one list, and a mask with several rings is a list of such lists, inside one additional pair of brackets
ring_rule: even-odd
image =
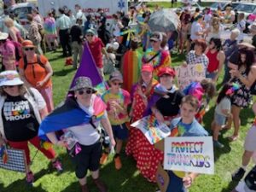
[[(25, 151), (27, 183), (34, 181), (29, 166), (28, 142), (51, 160), (58, 172), (62, 171), (55, 150), (42, 147), (38, 137), (41, 121), (47, 119), (48, 113), (58, 110), (54, 110), (53, 102), (53, 69), (44, 53), (55, 51), (59, 44), (64, 57), (73, 56), (74, 70), (87, 64), (80, 61), (84, 46), (88, 45), (97, 72), (108, 81), (108, 89), (100, 96), (90, 78), (79, 77), (68, 90), (71, 95), (64, 103), (69, 111), (77, 110), (78, 118), (89, 117), (83, 124), (78, 121), (62, 127), (65, 128), (62, 134), (71, 134), (78, 143), (74, 154), (72, 148), (67, 149), (68, 154), (72, 154), (75, 174), (83, 192), (89, 191), (88, 170), (96, 187), (101, 192), (108, 191), (100, 179), (99, 170), (101, 164), (106, 164), (113, 148), (117, 170), (125, 166), (120, 158), (124, 156), (120, 154), (125, 148), (125, 154), (136, 160), (143, 177), (156, 182), (157, 169), (163, 164), (163, 151), (149, 143), (142, 131), (131, 127), (132, 122), (145, 116), (169, 126), (170, 137), (206, 137), (211, 134), (214, 148), (220, 149), (225, 146), (218, 141), (219, 134), (231, 129), (233, 123), (234, 133), (229, 139), (230, 142), (237, 140), (241, 110), (251, 108), (256, 92), (256, 17), (249, 16), (246, 20), (244, 14), (237, 14), (231, 7), (224, 12), (206, 8), (191, 13), (185, 6), (183, 10), (176, 10), (180, 25), (175, 32), (152, 32), (148, 20), (161, 9), (159, 6), (154, 10), (148, 9), (145, 3), (139, 7), (131, 6), (127, 15), (122, 11), (112, 15), (111, 26), (107, 26), (103, 9), (98, 9), (97, 15), (84, 15), (79, 4), (74, 9), (75, 13), (67, 7), (60, 8), (58, 17), (55, 10), (49, 10), (46, 18), (33, 9), (32, 14), (27, 15), (28, 33), (19, 29), (14, 15), (6, 15), (0, 29), (3, 71), (0, 73), (0, 144), (8, 143), (12, 148)], [(230, 27), (230, 38), (223, 39), (221, 34), (226, 27)], [(245, 30), (251, 37), (249, 43)], [(179, 89), (172, 66), (174, 51), (186, 54), (183, 67), (201, 64), (206, 78), (192, 82), (184, 90)], [(221, 73), (224, 73), (223, 79)], [(106, 79), (107, 74), (109, 79)], [(217, 82), (223, 82), (218, 91)], [(214, 96), (217, 96), (214, 118), (211, 130), (206, 131), (202, 120)], [(49, 131), (47, 137), (53, 145), (66, 148), (67, 143), (59, 134)], [(106, 142), (107, 137), (110, 142)], [(239, 181), (244, 176), (256, 151), (255, 137), (253, 122), (245, 139), (241, 167), (232, 174), (233, 180)], [(186, 191), (198, 175), (174, 171), (167, 174), (172, 181), (167, 192)], [(255, 191), (252, 186), (247, 188)]]

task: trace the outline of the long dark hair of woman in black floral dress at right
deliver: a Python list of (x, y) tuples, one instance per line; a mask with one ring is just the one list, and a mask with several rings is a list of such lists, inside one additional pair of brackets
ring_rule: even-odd
[[(246, 55), (246, 61), (242, 62), (241, 61), (241, 55)], [(238, 61), (238, 69), (245, 65), (246, 66), (246, 71), (245, 73), (248, 75), (248, 73), (251, 71), (251, 67), (253, 66), (254, 62), (254, 53), (253, 50), (243, 48), (239, 50), (239, 61)]]

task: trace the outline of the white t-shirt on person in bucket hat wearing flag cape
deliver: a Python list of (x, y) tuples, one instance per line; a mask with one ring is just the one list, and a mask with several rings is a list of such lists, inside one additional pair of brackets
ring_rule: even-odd
[[(81, 103), (79, 103), (79, 107), (82, 108), (86, 113), (90, 116), (93, 115), (93, 103), (96, 98), (96, 95), (92, 95), (90, 99), (90, 107), (86, 108)], [(103, 118), (107, 118), (107, 112), (105, 111)], [(100, 121), (97, 120), (93, 122), (96, 128), (99, 128)], [(98, 133), (97, 129), (95, 129), (90, 123), (84, 125), (77, 125), (69, 127), (67, 130), (72, 131), (74, 137), (79, 140), (79, 143), (82, 145), (92, 145), (96, 143), (100, 139), (100, 134)]]

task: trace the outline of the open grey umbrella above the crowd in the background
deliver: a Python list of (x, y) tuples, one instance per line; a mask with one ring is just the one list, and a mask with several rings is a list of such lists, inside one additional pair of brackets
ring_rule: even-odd
[(148, 26), (152, 32), (173, 32), (180, 26), (180, 20), (171, 9), (160, 9), (150, 15)]

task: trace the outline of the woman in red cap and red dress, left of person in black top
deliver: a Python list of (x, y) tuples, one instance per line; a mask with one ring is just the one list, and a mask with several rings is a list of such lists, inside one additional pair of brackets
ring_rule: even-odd
[[(152, 65), (144, 64), (141, 78), (138, 83), (133, 86), (131, 93), (133, 100), (130, 112), (131, 122), (143, 118), (143, 112), (147, 108), (148, 101), (154, 93), (154, 86), (157, 84), (157, 81), (153, 79), (153, 71), (154, 68)], [(143, 133), (137, 128), (131, 127), (125, 152), (128, 155), (132, 155), (135, 160), (137, 160), (137, 145), (139, 145), (141, 137), (143, 137)]]

